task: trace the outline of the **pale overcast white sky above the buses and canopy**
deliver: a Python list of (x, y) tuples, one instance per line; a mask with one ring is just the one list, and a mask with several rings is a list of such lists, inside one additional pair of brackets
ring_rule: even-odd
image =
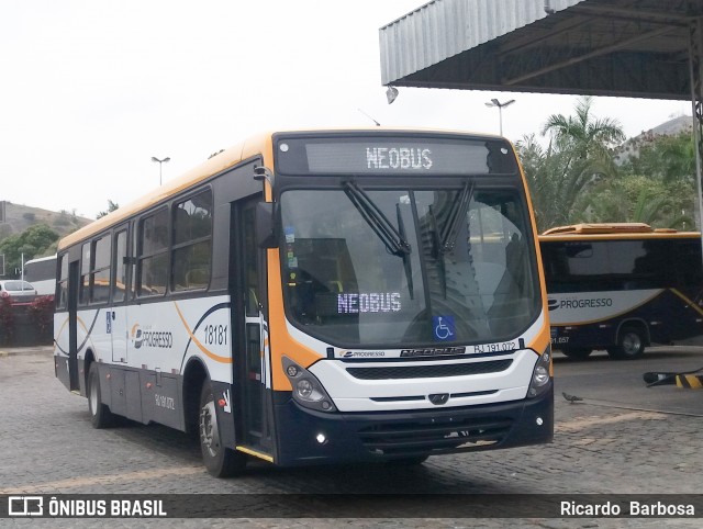
[[(577, 97), (381, 86), (379, 29), (423, 0), (0, 0), (0, 201), (94, 218), (261, 131), (382, 125), (517, 140)], [(627, 136), (691, 114), (595, 98)], [(370, 116), (370, 117), (369, 117)]]

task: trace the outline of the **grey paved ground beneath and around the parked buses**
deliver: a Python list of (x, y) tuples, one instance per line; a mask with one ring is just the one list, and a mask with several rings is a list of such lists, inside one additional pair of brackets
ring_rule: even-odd
[[(415, 468), (353, 465), (277, 469), (253, 464), (243, 477), (215, 480), (199, 447), (159, 426), (90, 427), (85, 398), (54, 379), (51, 348), (0, 351), (0, 494), (699, 494), (703, 390), (646, 387), (646, 371), (703, 367), (703, 351), (674, 348), (614, 362), (555, 359), (555, 442), (543, 447), (431, 458)], [(583, 398), (570, 404), (566, 392)], [(236, 497), (236, 496), (233, 496)], [(263, 502), (258, 515), (266, 513)], [(416, 511), (416, 510), (415, 510)], [(422, 508), (420, 508), (422, 513)], [(667, 519), (265, 519), (146, 520), (178, 527), (699, 527)], [(257, 515), (257, 516), (258, 516)], [(413, 515), (422, 516), (422, 515)], [(699, 516), (701, 514), (699, 513)], [(26, 520), (0, 519), (0, 527)], [(32, 520), (51, 527), (92, 527), (96, 520)], [(144, 520), (100, 520), (137, 527)]]

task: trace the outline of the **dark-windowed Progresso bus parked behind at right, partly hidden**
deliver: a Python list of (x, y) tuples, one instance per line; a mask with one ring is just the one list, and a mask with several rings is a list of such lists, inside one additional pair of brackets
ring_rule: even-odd
[(700, 233), (577, 224), (545, 232), (539, 246), (555, 349), (636, 359), (652, 344), (702, 344)]

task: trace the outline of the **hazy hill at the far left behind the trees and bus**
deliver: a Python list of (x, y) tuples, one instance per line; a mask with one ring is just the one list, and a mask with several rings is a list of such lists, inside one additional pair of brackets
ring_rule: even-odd
[(92, 218), (77, 216), (67, 211), (54, 212), (7, 201), (0, 202), (0, 209), (4, 210), (4, 218), (0, 218), (3, 221), (0, 222), (0, 240), (20, 234), (35, 224), (46, 224), (64, 237), (92, 222)]

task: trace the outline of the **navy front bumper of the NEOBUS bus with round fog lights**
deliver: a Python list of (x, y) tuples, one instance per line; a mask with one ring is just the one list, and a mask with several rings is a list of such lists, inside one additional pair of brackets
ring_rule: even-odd
[(554, 384), (536, 398), (417, 412), (321, 413), (277, 394), (277, 463), (392, 461), (550, 442)]

